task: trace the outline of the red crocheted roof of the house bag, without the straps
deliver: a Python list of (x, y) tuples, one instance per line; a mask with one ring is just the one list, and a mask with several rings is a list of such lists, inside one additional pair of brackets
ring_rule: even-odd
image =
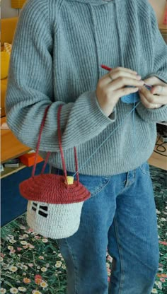
[(30, 201), (48, 204), (71, 204), (85, 201), (91, 193), (80, 182), (65, 184), (61, 175), (44, 174), (30, 177), (19, 185), (21, 195)]

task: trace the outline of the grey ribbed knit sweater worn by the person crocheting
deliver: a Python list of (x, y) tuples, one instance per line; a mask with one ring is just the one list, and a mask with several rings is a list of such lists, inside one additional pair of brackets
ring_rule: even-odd
[[(147, 0), (29, 0), (21, 11), (13, 41), (7, 123), (18, 139), (35, 149), (47, 105), (40, 154), (52, 151), (50, 163), (62, 167), (57, 141), (57, 109), (67, 170), (75, 171), (125, 119), (133, 105), (121, 101), (106, 117), (96, 99), (98, 79), (124, 66), (146, 78), (167, 83), (167, 47)], [(146, 109), (142, 103), (79, 170), (87, 175), (115, 175), (132, 170), (151, 155), (156, 122), (167, 119), (167, 106)]]

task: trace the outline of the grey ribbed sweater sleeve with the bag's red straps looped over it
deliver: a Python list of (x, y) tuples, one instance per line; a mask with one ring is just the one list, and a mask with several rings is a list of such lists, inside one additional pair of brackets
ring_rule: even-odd
[(47, 105), (41, 151), (59, 151), (57, 110), (61, 111), (62, 147), (84, 143), (98, 136), (115, 114), (106, 117), (95, 91), (82, 93), (75, 102), (55, 101), (52, 80), (52, 28), (48, 0), (28, 0), (23, 6), (13, 40), (6, 90), (8, 127), (19, 141), (35, 148)]

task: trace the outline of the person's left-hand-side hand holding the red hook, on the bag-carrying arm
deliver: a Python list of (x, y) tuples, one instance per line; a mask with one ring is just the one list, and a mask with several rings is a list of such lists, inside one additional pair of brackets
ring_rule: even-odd
[[(141, 76), (137, 76), (136, 71), (124, 67), (112, 69), (102, 76), (98, 80), (96, 97), (105, 115), (109, 116), (113, 112), (113, 108), (122, 96), (137, 92), (139, 86), (144, 85), (144, 81), (140, 80)], [(135, 88), (125, 88), (125, 86)]]

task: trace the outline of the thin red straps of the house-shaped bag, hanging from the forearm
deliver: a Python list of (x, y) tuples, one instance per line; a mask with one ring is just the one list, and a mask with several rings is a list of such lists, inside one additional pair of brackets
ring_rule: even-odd
[[(61, 135), (61, 128), (60, 128), (60, 113), (61, 113), (61, 110), (62, 110), (62, 106), (63, 105), (59, 106), (59, 109), (58, 109), (58, 112), (57, 112), (57, 131), (58, 131), (59, 149), (60, 149), (60, 154), (61, 154), (61, 158), (62, 158), (62, 166), (63, 166), (64, 176), (65, 176), (67, 187), (68, 187), (67, 169), (66, 169), (65, 160), (64, 160), (64, 153), (63, 153), (63, 150), (62, 150), (62, 135)], [(46, 120), (47, 112), (48, 112), (49, 108), (50, 108), (50, 105), (48, 105), (47, 108), (45, 109), (44, 117), (42, 119), (42, 123), (41, 123), (41, 126), (40, 126), (40, 134), (39, 134), (39, 137), (38, 137), (38, 143), (37, 143), (37, 148), (36, 148), (36, 153), (35, 153), (35, 160), (34, 160), (32, 177), (35, 176), (35, 170), (36, 170), (38, 153), (39, 153), (39, 148), (40, 148), (40, 140), (41, 140), (41, 136), (42, 136), (42, 130), (43, 130), (43, 127), (45, 125), (45, 120)], [(41, 175), (45, 172), (45, 167), (46, 167), (47, 161), (48, 161), (48, 159), (50, 157), (50, 153), (51, 153), (50, 151), (47, 152), (47, 156), (45, 158), (45, 163), (44, 163), (44, 165), (42, 167)], [(77, 160), (77, 155), (76, 155), (76, 147), (74, 147), (74, 158), (75, 158), (75, 167), (76, 167), (76, 180), (77, 180), (77, 182), (79, 184), (79, 172), (78, 172), (78, 160)]]

